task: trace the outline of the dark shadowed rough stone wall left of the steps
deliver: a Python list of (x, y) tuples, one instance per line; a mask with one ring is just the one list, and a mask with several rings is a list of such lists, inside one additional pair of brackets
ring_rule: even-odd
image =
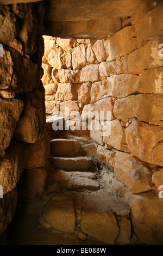
[(18, 181), (28, 200), (41, 199), (46, 182), (43, 15), (41, 3), (0, 5), (0, 234), (14, 215)]

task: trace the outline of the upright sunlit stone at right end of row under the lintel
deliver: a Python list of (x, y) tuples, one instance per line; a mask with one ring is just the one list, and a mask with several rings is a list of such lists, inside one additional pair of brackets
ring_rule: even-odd
[(96, 59), (98, 62), (103, 62), (108, 58), (108, 53), (105, 48), (105, 40), (97, 40), (92, 47), (93, 52), (95, 52)]

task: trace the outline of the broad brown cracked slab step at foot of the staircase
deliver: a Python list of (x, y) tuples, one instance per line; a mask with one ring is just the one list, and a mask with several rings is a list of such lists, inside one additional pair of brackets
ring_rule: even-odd
[[(93, 237), (106, 245), (128, 244), (131, 235), (129, 205), (107, 191), (56, 192), (40, 217), (42, 227)], [(76, 225), (78, 223), (78, 225)]]

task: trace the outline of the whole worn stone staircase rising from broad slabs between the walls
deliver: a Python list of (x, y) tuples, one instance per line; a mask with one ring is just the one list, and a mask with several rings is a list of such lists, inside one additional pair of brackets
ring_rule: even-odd
[(129, 205), (103, 185), (96, 162), (96, 145), (89, 136), (63, 131), (51, 140), (41, 226), (73, 234), (83, 245), (90, 239), (94, 245), (128, 244)]

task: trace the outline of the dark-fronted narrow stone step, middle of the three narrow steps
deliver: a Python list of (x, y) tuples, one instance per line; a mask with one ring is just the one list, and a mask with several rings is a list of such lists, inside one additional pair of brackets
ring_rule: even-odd
[(77, 157), (54, 157), (49, 156), (49, 163), (56, 169), (62, 170), (89, 170), (92, 160), (87, 156)]

